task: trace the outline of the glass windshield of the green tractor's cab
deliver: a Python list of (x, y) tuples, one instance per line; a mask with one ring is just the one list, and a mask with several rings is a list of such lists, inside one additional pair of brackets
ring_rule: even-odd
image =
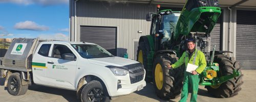
[(176, 24), (179, 20), (180, 13), (173, 13), (169, 15), (162, 16), (162, 30), (163, 33), (168, 33), (170, 35), (174, 32)]

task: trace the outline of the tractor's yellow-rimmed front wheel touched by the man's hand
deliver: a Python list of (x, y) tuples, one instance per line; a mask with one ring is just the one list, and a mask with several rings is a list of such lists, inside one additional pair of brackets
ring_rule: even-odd
[(153, 64), (153, 78), (156, 94), (161, 99), (173, 99), (180, 96), (183, 70), (182, 68), (168, 69), (167, 65), (177, 62), (175, 56), (160, 54), (155, 57)]

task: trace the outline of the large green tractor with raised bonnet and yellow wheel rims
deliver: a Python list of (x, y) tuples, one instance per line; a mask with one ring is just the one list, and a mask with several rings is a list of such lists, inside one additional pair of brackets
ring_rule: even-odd
[(199, 85), (215, 97), (237, 95), (243, 84), (239, 62), (227, 56), (232, 52), (210, 46), (210, 32), (221, 15), (218, 0), (188, 0), (181, 12), (160, 10), (160, 5), (157, 8), (157, 13), (147, 14), (147, 21), (152, 21), (151, 32), (139, 39), (137, 61), (144, 65), (145, 80), (154, 83), (158, 97), (180, 96), (185, 65), (170, 70), (167, 65), (185, 52), (188, 38), (196, 40), (196, 48), (207, 61)]

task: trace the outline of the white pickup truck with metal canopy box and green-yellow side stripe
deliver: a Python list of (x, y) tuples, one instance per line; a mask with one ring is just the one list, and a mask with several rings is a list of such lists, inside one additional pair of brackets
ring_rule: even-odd
[(0, 75), (11, 95), (37, 84), (77, 91), (81, 101), (110, 101), (146, 85), (142, 64), (87, 42), (14, 39), (1, 58)]

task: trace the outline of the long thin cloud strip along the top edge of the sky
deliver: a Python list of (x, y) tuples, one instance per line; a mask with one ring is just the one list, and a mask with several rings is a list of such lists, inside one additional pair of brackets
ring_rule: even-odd
[(23, 5), (39, 4), (39, 5), (58, 5), (69, 4), (69, 0), (0, 0), (0, 3), (15, 3)]

